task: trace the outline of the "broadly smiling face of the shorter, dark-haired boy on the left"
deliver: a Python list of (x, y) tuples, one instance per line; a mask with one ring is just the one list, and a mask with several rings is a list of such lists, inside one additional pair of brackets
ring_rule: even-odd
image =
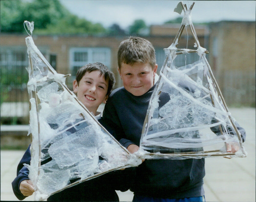
[(94, 115), (99, 105), (108, 99), (108, 81), (103, 74), (100, 76), (100, 71), (86, 72), (79, 84), (76, 80), (73, 82), (73, 90), (78, 100)]

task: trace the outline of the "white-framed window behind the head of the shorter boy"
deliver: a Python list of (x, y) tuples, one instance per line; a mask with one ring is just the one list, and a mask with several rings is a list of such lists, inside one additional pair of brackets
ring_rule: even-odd
[(77, 70), (88, 63), (100, 62), (110, 68), (109, 48), (71, 48), (69, 53), (72, 80), (75, 79)]

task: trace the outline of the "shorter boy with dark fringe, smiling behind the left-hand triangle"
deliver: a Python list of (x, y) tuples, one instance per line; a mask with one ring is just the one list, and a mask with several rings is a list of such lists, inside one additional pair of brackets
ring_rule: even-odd
[[(73, 82), (73, 90), (77, 94), (78, 100), (100, 121), (101, 113), (97, 112), (97, 109), (102, 102), (106, 103), (114, 84), (114, 74), (107, 66), (102, 63), (92, 63), (81, 67), (77, 71), (76, 80)], [(100, 121), (100, 123), (102, 122)], [(30, 160), (31, 154), (28, 147), (18, 165), (17, 177), (12, 182), (13, 192), (19, 200), (23, 200), (34, 192), (32, 182), (28, 178), (28, 168), (23, 166), (23, 163), (30, 164)], [(119, 181), (116, 178), (117, 176), (110, 172), (53, 194), (47, 200), (119, 201), (115, 189), (119, 190), (122, 185), (118, 184)], [(128, 188), (121, 191), (126, 191), (125, 189)]]

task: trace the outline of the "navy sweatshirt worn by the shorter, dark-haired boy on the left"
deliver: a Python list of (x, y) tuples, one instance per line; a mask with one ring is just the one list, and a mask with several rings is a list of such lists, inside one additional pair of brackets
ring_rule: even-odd
[[(103, 124), (102, 120), (99, 120)], [(19, 200), (26, 198), (20, 192), (20, 183), (28, 178), (28, 168), (24, 163), (30, 164), (31, 154), (30, 146), (24, 153), (18, 167), (17, 177), (12, 182), (12, 189)], [(115, 170), (99, 176), (97, 178), (79, 183), (73, 187), (65, 189), (59, 193), (53, 194), (47, 201), (119, 201), (115, 190), (127, 191), (128, 185), (124, 181), (129, 181), (133, 168), (125, 170)]]

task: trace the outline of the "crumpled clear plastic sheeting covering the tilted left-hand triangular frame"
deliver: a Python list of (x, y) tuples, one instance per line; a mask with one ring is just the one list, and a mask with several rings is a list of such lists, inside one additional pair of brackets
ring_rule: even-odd
[[(65, 87), (65, 77), (51, 68), (26, 38), (29, 55), (31, 162), (29, 178), (35, 200), (109, 171), (138, 166), (129, 153), (76, 101)], [(50, 66), (50, 67), (49, 67)]]

